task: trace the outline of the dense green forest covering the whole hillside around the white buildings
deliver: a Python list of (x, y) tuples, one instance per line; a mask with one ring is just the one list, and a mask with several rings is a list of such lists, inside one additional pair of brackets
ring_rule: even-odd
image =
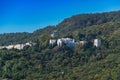
[[(67, 46), (49, 45), (50, 34), (92, 41), (100, 38), (96, 48), (90, 43)], [(33, 33), (0, 34), (0, 45), (36, 42), (23, 50), (0, 50), (0, 79), (10, 80), (119, 80), (120, 79), (120, 11), (79, 14)]]

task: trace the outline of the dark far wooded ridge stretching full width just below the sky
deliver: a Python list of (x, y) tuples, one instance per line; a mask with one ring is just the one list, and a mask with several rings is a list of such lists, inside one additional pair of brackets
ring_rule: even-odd
[[(93, 25), (100, 27), (102, 26), (102, 24), (104, 25), (105, 23), (108, 23), (108, 22), (111, 22), (112, 24), (114, 24), (114, 22), (119, 22), (119, 21), (120, 21), (120, 11), (94, 13), (94, 14), (79, 14), (79, 15), (75, 15), (70, 18), (64, 19), (61, 23), (59, 23), (56, 26), (47, 26), (43, 29), (38, 29), (34, 31), (33, 33), (0, 34), (0, 45), (34, 41), (40, 35), (51, 34), (54, 30), (58, 30), (60, 36), (63, 36), (63, 37), (68, 35), (77, 35), (78, 32), (80, 33), (83, 32), (82, 31), (83, 29), (89, 30), (89, 28), (87, 27), (92, 27), (91, 29), (93, 29), (94, 28)], [(102, 28), (100, 30), (102, 31)], [(99, 30), (98, 32), (100, 33)], [(93, 31), (93, 33), (96, 33), (96, 31)]]

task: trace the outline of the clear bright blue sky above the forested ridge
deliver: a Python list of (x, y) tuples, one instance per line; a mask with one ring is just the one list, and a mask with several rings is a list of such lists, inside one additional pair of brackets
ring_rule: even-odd
[(32, 32), (75, 14), (120, 10), (120, 0), (0, 0), (0, 33)]

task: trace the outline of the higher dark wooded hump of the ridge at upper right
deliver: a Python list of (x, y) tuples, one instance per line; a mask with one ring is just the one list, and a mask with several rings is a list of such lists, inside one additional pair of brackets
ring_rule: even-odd
[(80, 14), (64, 19), (58, 24), (61, 29), (78, 29), (92, 25), (99, 25), (110, 21), (120, 21), (120, 11), (95, 14)]

